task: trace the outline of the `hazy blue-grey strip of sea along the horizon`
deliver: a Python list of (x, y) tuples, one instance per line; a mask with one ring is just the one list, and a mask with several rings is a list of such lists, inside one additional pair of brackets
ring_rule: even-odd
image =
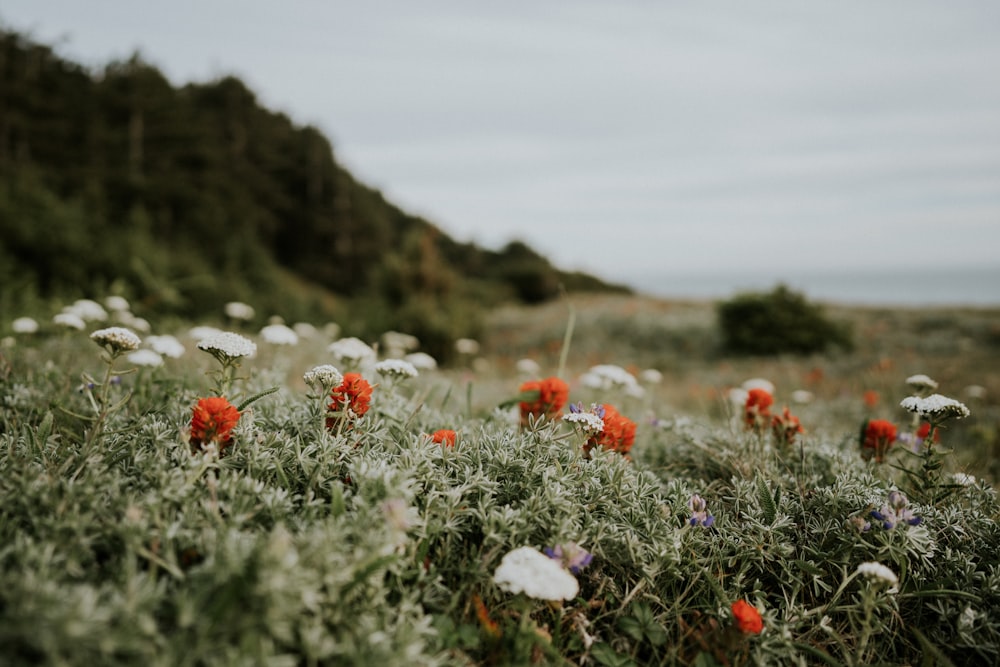
[(619, 279), (651, 296), (727, 299), (784, 284), (817, 302), (870, 306), (1000, 307), (1000, 265), (967, 269), (773, 273), (650, 273)]

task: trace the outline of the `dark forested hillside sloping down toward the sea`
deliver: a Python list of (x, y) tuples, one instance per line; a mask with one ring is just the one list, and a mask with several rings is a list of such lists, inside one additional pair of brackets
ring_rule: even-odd
[(197, 317), (238, 299), (443, 343), (483, 305), (560, 287), (624, 289), (520, 242), (449, 238), (235, 77), (175, 87), (137, 56), (93, 71), (0, 30), (4, 311), (116, 291)]

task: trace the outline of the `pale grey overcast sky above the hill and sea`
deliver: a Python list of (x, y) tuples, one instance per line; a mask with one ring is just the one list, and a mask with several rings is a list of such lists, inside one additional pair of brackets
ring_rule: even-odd
[(4, 0), (0, 23), (93, 67), (235, 74), (403, 209), (564, 269), (1000, 271), (995, 0)]

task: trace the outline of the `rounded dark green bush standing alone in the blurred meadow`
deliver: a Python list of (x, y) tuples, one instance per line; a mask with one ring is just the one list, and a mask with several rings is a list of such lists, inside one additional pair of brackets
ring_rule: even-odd
[(813, 354), (853, 349), (846, 326), (828, 320), (805, 297), (778, 285), (768, 294), (740, 294), (718, 306), (723, 348), (733, 354)]

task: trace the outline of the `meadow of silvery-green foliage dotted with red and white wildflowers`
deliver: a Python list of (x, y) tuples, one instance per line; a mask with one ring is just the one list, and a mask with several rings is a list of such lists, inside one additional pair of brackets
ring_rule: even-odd
[(0, 323), (3, 664), (1000, 661), (995, 313), (732, 359), (581, 299), (437, 368), (77, 305)]

